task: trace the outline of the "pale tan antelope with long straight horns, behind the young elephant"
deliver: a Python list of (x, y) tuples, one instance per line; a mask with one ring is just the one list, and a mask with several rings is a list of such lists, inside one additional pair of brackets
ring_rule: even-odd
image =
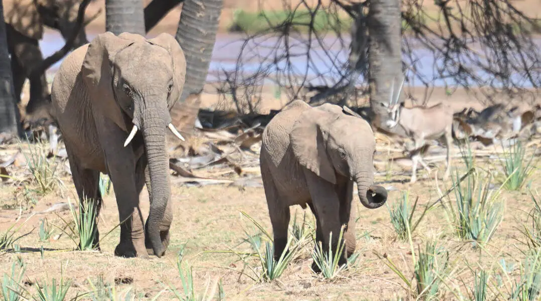
[[(405, 78), (404, 78), (405, 81)], [(394, 80), (391, 85), (391, 97), (388, 105), (383, 103), (382, 105), (387, 107), (388, 120), (386, 125), (389, 129), (400, 126), (404, 129), (407, 137), (413, 140), (413, 148), (406, 150), (410, 152), (413, 168), (410, 183), (415, 183), (417, 180), (417, 163), (421, 163), (423, 167), (430, 172), (430, 168), (423, 160), (421, 152), (423, 152), (423, 146), (427, 139), (439, 139), (445, 138), (445, 146), (447, 148), (446, 169), (443, 179), (446, 180), (450, 174), (451, 167), (451, 142), (452, 142), (452, 124), (453, 124), (453, 111), (448, 105), (439, 103), (430, 107), (427, 106), (413, 106), (412, 108), (405, 108), (404, 103), (398, 103), (400, 92), (404, 86), (404, 81), (398, 89), (397, 97), (393, 99)], [(426, 148), (425, 148), (426, 149)]]

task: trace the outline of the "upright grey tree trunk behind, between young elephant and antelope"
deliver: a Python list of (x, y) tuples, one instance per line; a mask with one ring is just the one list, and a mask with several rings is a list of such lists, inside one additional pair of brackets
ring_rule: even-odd
[(371, 0), (367, 19), (368, 36), (370, 37), (368, 42), (368, 83), (370, 85), (372, 125), (378, 129), (391, 131), (385, 126), (388, 113), (381, 104), (389, 102), (393, 79), (393, 95), (398, 92), (403, 79), (400, 49), (400, 1)]

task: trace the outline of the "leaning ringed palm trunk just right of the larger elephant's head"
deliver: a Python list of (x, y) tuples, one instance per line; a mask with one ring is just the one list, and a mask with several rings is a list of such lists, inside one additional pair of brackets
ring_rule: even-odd
[(186, 0), (182, 4), (176, 41), (186, 56), (186, 83), (177, 103), (199, 92), (207, 79), (223, 0)]

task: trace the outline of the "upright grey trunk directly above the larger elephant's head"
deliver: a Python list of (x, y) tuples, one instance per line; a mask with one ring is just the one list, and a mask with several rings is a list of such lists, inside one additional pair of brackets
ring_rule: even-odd
[(145, 36), (143, 0), (105, 0), (105, 31)]

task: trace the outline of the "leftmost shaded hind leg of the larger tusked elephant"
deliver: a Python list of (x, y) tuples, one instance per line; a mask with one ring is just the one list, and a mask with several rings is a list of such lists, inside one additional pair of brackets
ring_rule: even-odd
[(100, 250), (100, 232), (97, 228), (97, 219), (103, 202), (99, 185), (100, 172), (82, 168), (78, 163), (77, 158), (69, 150), (68, 145), (66, 145), (66, 151), (68, 153), (71, 176), (79, 197), (79, 203), (83, 206), (83, 210), (87, 210), (89, 206), (91, 206), (96, 212), (96, 218), (94, 219), (95, 234), (93, 244), (95, 249)]

